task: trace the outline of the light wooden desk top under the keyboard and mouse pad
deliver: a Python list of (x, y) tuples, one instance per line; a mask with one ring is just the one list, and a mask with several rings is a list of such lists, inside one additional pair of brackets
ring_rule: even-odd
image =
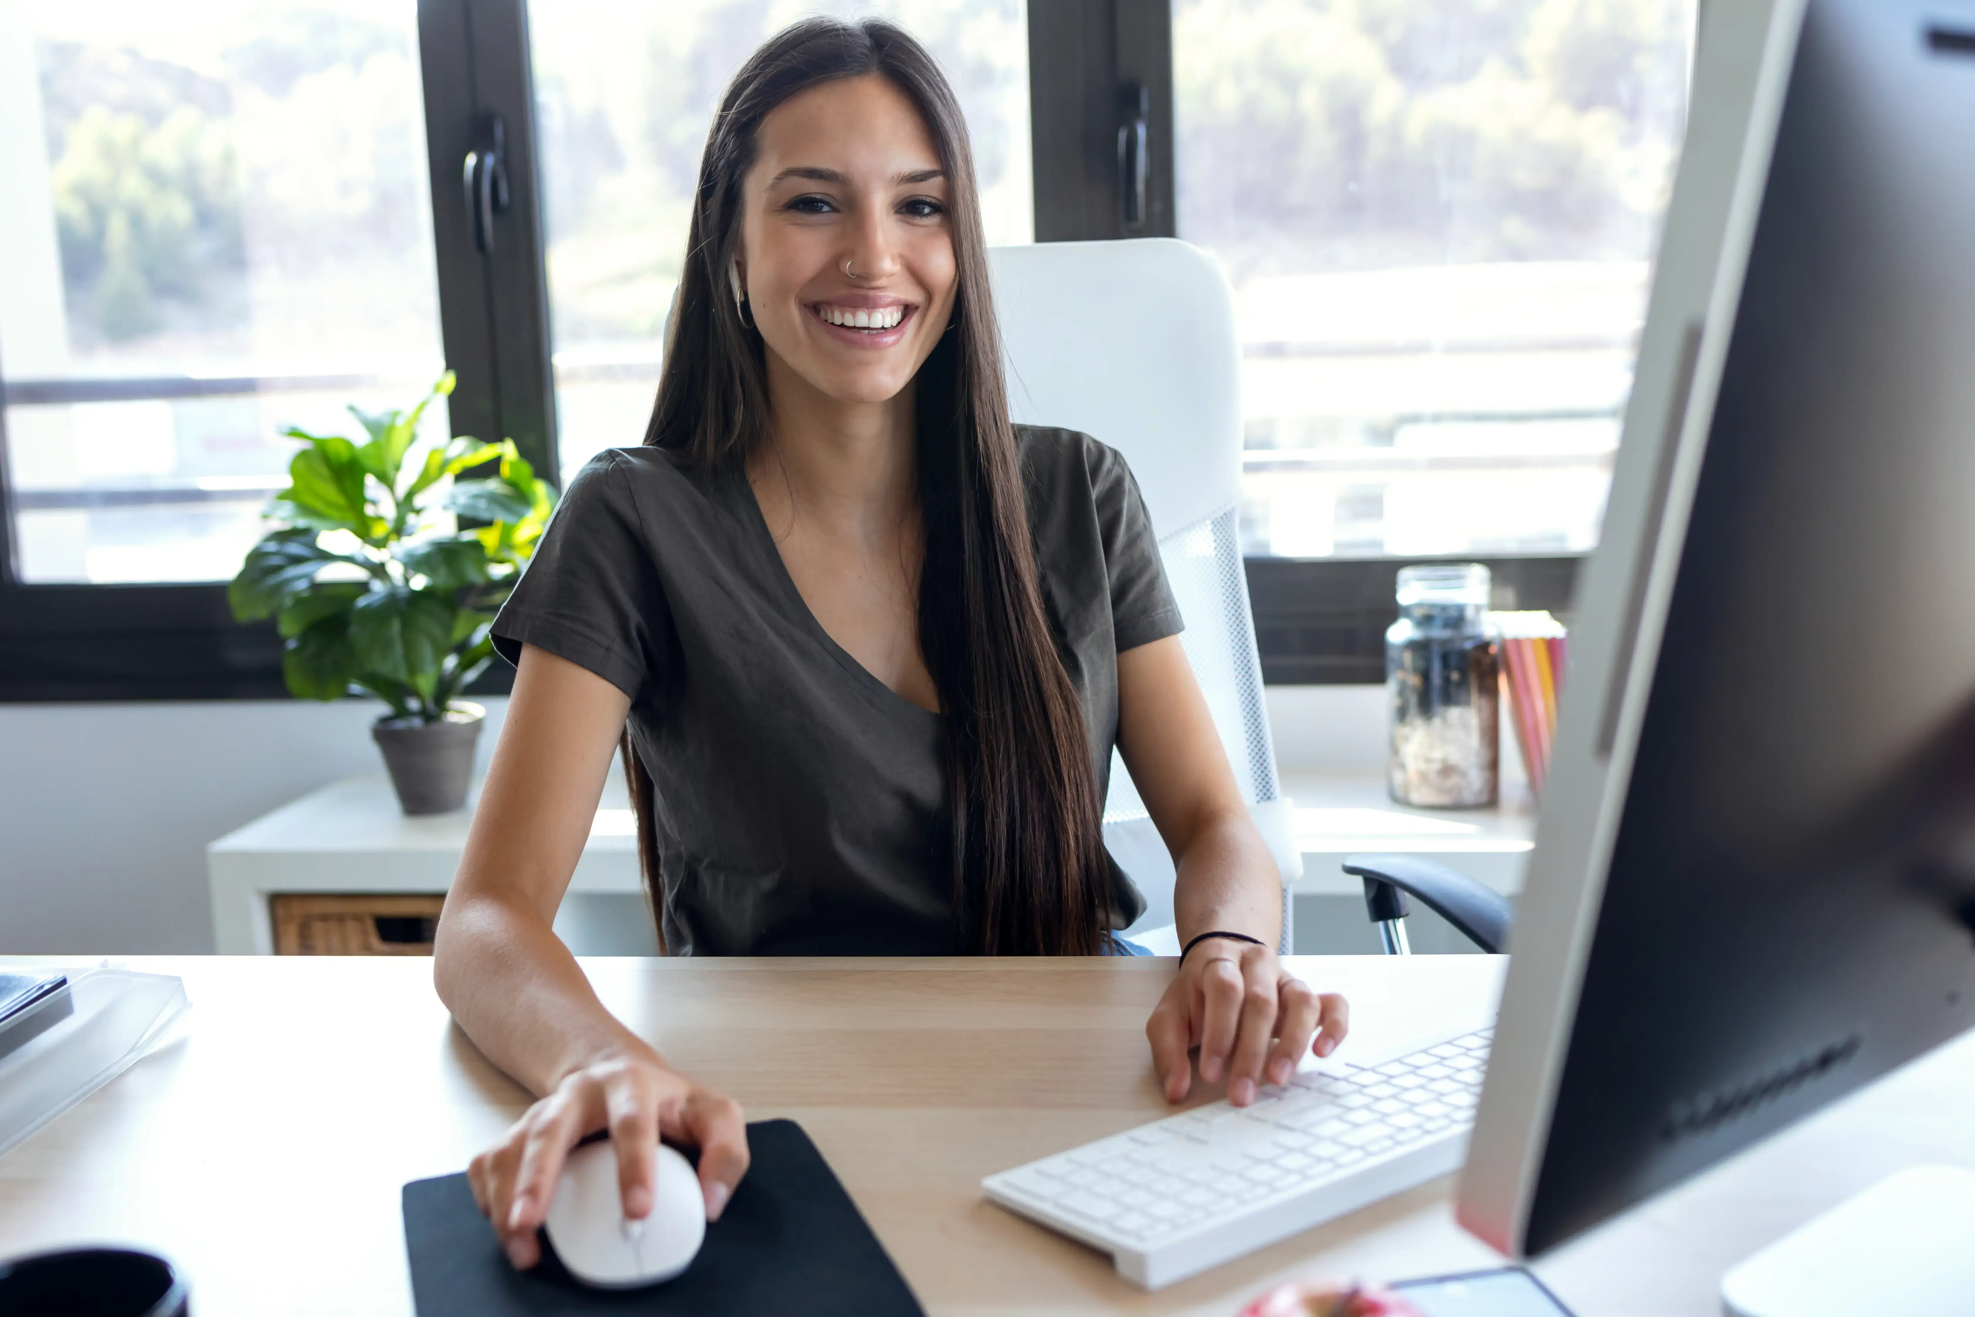
[[(1357, 1043), (1493, 1001), (1499, 960), (1298, 962)], [(411, 1311), (399, 1187), (525, 1106), (423, 960), (186, 958), (188, 1035), (0, 1157), (0, 1256), (85, 1240), (178, 1260), (199, 1317)], [(988, 1204), (980, 1177), (1161, 1114), (1159, 960), (591, 960), (602, 999), (750, 1118), (800, 1120), (930, 1313), (1230, 1317), (1276, 1279), (1489, 1266), (1426, 1185), (1159, 1293)], [(1720, 1272), (1914, 1161), (1975, 1165), (1975, 1041), (1943, 1048), (1539, 1272), (1582, 1317), (1716, 1313)]]

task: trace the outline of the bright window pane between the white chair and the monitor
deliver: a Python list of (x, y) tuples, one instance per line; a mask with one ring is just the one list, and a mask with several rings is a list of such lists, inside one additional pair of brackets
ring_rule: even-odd
[(1173, 0), (1250, 557), (1598, 541), (1691, 34), (1693, 0)]

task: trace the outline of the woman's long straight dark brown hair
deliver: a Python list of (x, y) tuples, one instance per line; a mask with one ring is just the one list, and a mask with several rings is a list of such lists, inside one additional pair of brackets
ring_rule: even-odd
[[(685, 271), (644, 442), (715, 466), (745, 460), (764, 438), (764, 346), (727, 280), (754, 134), (790, 97), (873, 73), (918, 107), (938, 146), (958, 276), (952, 330), (916, 377), (926, 545), (918, 644), (946, 727), (946, 849), (958, 950), (1092, 954), (1110, 904), (1096, 766), (1037, 581), (988, 294), (974, 152), (946, 77), (903, 30), (881, 20), (812, 18), (768, 39), (727, 87), (699, 164)], [(622, 750), (638, 812), (638, 855), (658, 914), (664, 892), (652, 778), (630, 733)]]

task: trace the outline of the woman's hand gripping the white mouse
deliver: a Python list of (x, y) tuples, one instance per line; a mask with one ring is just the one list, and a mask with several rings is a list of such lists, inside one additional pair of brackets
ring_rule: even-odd
[(630, 1218), (652, 1212), (660, 1137), (699, 1147), (707, 1220), (719, 1220), (747, 1175), (747, 1118), (739, 1102), (668, 1070), (656, 1054), (594, 1060), (527, 1108), (466, 1171), (474, 1201), (515, 1268), (541, 1262), (535, 1228), (549, 1214), (563, 1161), (598, 1129), (608, 1129), (616, 1147), (618, 1189)]

